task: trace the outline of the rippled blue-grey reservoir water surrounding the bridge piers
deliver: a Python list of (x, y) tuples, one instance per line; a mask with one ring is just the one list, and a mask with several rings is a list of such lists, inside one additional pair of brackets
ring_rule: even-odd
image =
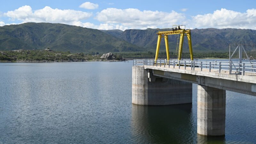
[(132, 61), (0, 63), (0, 143), (256, 143), (256, 97), (226, 92), (226, 135), (193, 103), (132, 104)]

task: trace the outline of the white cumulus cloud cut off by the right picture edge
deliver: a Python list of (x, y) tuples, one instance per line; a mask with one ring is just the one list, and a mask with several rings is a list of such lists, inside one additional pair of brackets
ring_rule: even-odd
[(197, 28), (249, 28), (256, 29), (256, 10), (235, 12), (227, 9), (216, 10), (213, 13), (192, 17)]

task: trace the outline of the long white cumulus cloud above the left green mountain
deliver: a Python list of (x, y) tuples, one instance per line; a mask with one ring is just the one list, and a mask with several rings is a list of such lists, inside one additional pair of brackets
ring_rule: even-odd
[(45, 6), (43, 9), (32, 11), (28, 5), (22, 6), (14, 11), (4, 13), (11, 20), (21, 20), (23, 22), (51, 22), (70, 24), (73, 21), (88, 19), (92, 13), (75, 11), (75, 10), (60, 10), (52, 9)]

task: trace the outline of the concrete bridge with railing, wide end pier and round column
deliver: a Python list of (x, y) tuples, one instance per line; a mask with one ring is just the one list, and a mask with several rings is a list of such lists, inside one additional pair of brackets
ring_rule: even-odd
[(226, 90), (256, 96), (256, 63), (190, 60), (133, 60), (132, 103), (192, 103), (198, 84), (197, 133), (225, 135)]

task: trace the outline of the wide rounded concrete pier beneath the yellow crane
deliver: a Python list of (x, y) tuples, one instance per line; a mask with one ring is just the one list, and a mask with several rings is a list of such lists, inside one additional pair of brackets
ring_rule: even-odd
[(148, 78), (144, 67), (132, 67), (132, 103), (172, 105), (192, 103), (192, 84), (161, 77)]

